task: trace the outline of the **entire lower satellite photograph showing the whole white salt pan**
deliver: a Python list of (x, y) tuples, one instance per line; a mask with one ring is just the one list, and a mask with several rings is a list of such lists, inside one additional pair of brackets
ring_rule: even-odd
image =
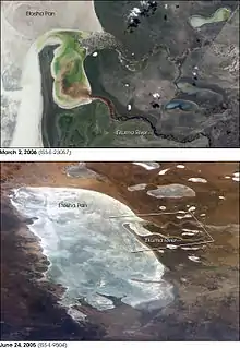
[(239, 340), (239, 164), (1, 163), (1, 340)]

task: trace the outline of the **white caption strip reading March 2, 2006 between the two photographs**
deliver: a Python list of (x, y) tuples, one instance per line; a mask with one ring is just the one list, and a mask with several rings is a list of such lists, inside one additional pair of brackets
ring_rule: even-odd
[(240, 149), (1, 148), (0, 161), (240, 161)]

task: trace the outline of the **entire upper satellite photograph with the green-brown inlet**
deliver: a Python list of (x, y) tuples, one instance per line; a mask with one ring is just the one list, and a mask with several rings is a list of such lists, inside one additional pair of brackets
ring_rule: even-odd
[(2, 147), (239, 147), (238, 1), (1, 1)]

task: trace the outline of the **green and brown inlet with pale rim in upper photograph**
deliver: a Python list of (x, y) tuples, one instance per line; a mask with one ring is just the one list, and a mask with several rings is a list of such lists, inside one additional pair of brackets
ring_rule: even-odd
[(89, 34), (81, 31), (50, 31), (37, 41), (38, 52), (46, 45), (60, 44), (51, 61), (53, 99), (64, 109), (89, 103), (91, 86), (84, 71), (86, 49), (81, 40)]

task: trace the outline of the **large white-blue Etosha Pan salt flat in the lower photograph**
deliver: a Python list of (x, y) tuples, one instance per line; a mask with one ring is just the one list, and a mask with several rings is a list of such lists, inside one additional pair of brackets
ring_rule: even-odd
[[(134, 253), (147, 248), (123, 224), (143, 233), (142, 219), (119, 201), (89, 190), (63, 188), (21, 188), (11, 202), (20, 214), (37, 217), (28, 228), (41, 239), (51, 265), (46, 276), (68, 288), (61, 303), (74, 305), (85, 300), (98, 310), (113, 302), (103, 295), (122, 298), (135, 308), (161, 308), (172, 300), (166, 281), (139, 283), (132, 278), (159, 281), (164, 266), (153, 252)], [(85, 202), (85, 207), (59, 207)], [(109, 218), (127, 215), (128, 217)], [(148, 250), (148, 249), (147, 249)]]

